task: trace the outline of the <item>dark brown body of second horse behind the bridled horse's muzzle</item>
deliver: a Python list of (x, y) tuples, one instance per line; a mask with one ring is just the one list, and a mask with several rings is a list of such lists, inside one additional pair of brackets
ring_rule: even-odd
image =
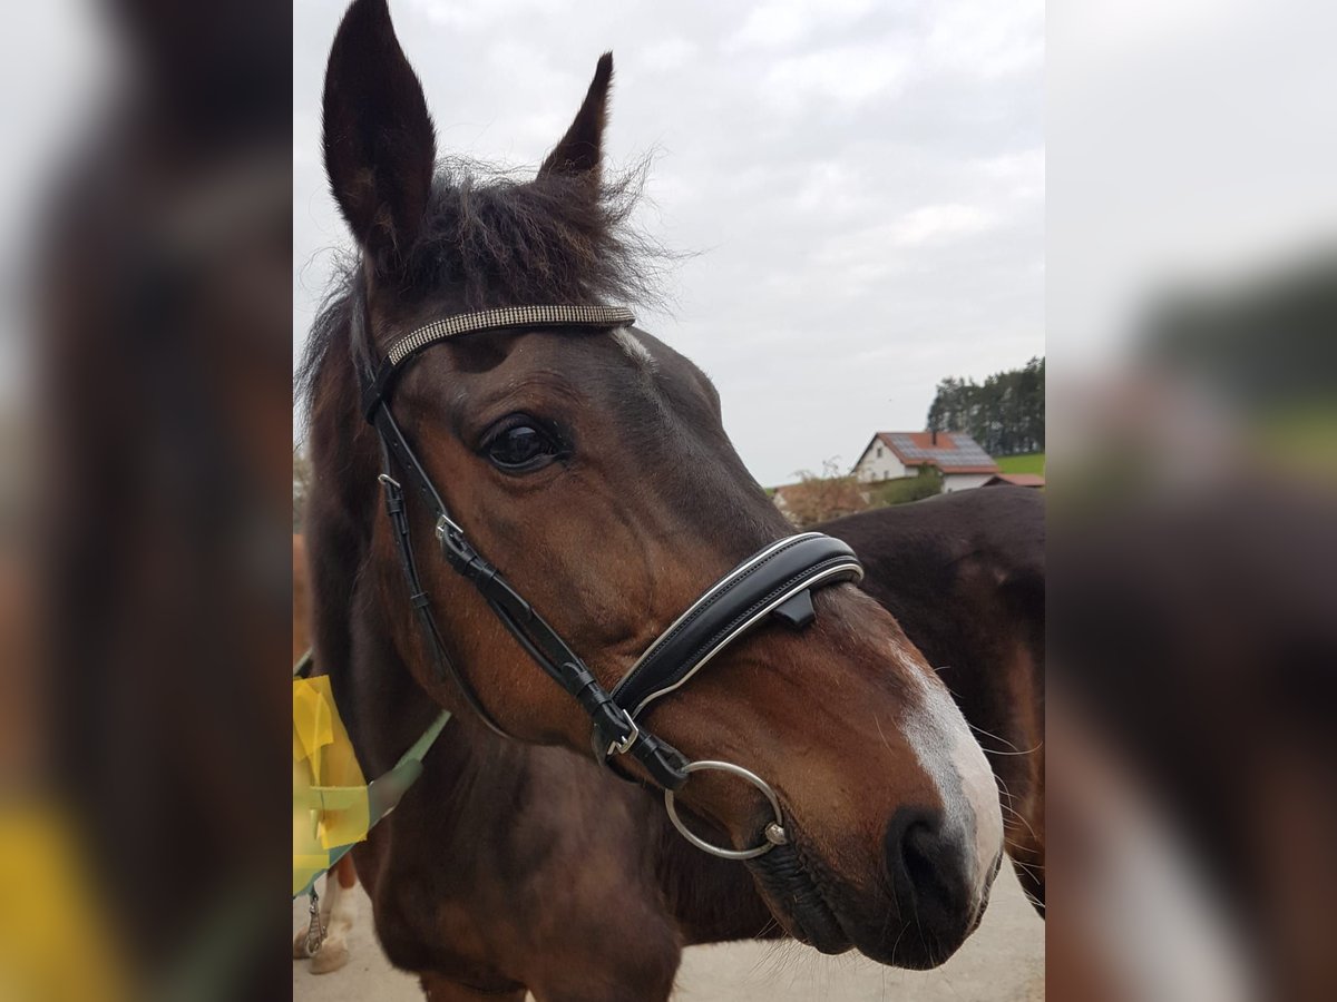
[(818, 526), (939, 665), (1003, 792), (1007, 852), (1044, 915), (1044, 500), (997, 486)]

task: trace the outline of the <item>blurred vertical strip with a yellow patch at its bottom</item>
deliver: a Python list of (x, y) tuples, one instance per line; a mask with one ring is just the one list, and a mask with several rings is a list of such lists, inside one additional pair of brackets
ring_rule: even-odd
[(277, 995), (290, 12), (0, 19), (0, 997)]

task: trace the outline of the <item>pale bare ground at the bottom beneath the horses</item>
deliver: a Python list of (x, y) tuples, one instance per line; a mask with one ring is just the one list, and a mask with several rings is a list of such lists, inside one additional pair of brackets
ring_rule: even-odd
[[(294, 1002), (421, 1002), (417, 981), (386, 963), (372, 931), (370, 903), (357, 891), (352, 959), (334, 974), (293, 963)], [(293, 903), (293, 929), (306, 925), (305, 899)], [(984, 922), (933, 971), (882, 967), (858, 954), (824, 957), (797, 943), (689, 947), (674, 999), (681, 1002), (1040, 1002), (1044, 998), (1044, 923), (1004, 864)]]

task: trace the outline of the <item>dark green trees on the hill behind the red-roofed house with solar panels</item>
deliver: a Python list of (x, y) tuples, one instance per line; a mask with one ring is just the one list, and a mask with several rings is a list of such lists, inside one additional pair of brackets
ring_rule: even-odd
[(929, 432), (965, 432), (989, 456), (1044, 452), (1044, 359), (983, 383), (948, 377), (928, 409)]

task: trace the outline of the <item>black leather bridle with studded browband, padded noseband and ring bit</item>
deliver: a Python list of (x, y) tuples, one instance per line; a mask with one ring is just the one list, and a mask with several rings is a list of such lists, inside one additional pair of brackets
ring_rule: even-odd
[[(352, 322), (354, 343), (370, 346), (365, 337), (369, 327), (360, 283), (354, 285)], [(616, 758), (630, 755), (663, 788), (670, 819), (693, 844), (727, 859), (750, 859), (786, 840), (783, 816), (774, 791), (741, 766), (689, 762), (682, 752), (646, 729), (644, 715), (651, 704), (685, 685), (721, 651), (769, 617), (794, 629), (812, 623), (816, 617), (812, 601), (814, 589), (862, 578), (864, 569), (854, 552), (840, 540), (821, 533), (790, 536), (765, 546), (697, 599), (608, 691), (548, 621), (469, 544), (390, 407), (394, 383), (404, 370), (425, 349), (448, 338), (507, 329), (615, 330), (634, 322), (635, 317), (623, 307), (583, 305), (512, 306), (445, 317), (394, 341), (380, 366), (374, 371), (370, 367), (364, 371), (362, 410), (380, 436), (382, 468), (378, 480), (385, 490), (385, 512), (408, 582), (409, 603), (416, 611), (439, 673), (452, 679), (473, 712), (492, 731), (509, 736), (447, 655), (413, 554), (405, 486), (416, 490), (425, 501), (447, 564), (479, 591), (529, 657), (590, 716), (595, 759), (624, 779), (631, 779), (614, 766)], [(766, 826), (766, 842), (749, 850), (726, 850), (702, 840), (679, 820), (674, 794), (691, 772), (702, 770), (739, 776), (766, 796), (775, 814), (774, 822)]]

